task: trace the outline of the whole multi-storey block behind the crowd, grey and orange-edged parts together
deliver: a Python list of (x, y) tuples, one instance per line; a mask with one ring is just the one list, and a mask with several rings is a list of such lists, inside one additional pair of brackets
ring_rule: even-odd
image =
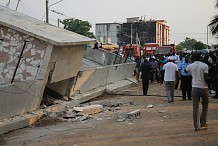
[(139, 20), (139, 17), (127, 18), (127, 22), (96, 24), (96, 39), (106, 44), (157, 43), (169, 45), (170, 27), (165, 20)]

